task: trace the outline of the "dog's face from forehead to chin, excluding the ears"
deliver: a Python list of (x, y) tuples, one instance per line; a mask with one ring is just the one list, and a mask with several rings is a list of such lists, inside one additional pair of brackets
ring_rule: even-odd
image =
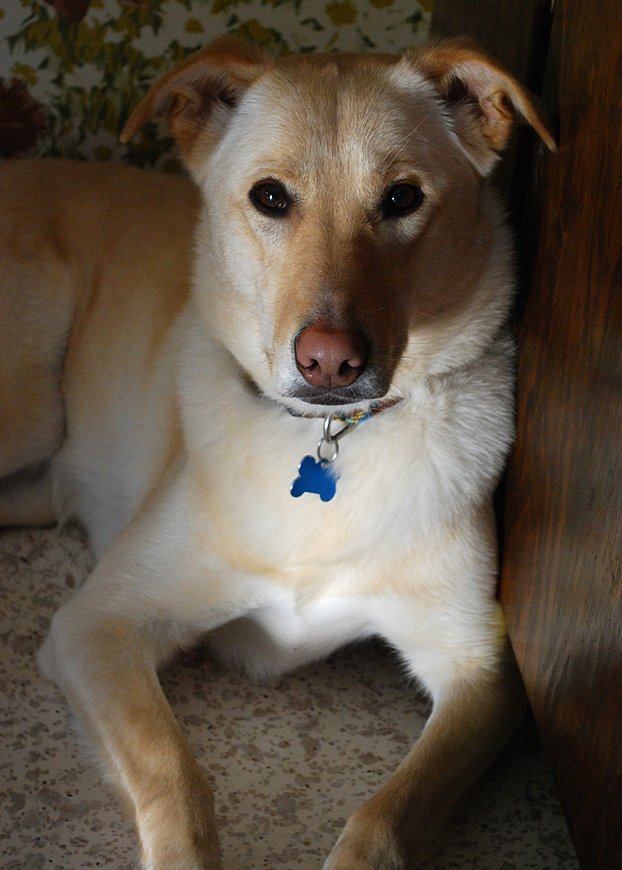
[(432, 88), (392, 72), (330, 57), (271, 71), (199, 169), (221, 337), (264, 392), (318, 413), (387, 395), (417, 326), (472, 292), (461, 229), (477, 231), (479, 176)]

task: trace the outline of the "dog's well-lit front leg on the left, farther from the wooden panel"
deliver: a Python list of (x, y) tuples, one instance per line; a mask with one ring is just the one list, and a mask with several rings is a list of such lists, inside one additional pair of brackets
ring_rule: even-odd
[(65, 693), (129, 798), (143, 866), (220, 870), (212, 792), (156, 673), (179, 634), (167, 639), (153, 616), (137, 617), (135, 589), (125, 584), (144, 588), (144, 577), (126, 574), (123, 585), (107, 579), (97, 569), (55, 615), (39, 655), (41, 670)]

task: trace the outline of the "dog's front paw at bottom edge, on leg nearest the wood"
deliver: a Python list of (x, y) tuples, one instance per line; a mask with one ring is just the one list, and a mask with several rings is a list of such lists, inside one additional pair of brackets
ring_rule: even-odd
[(363, 809), (348, 820), (324, 870), (406, 870), (406, 863), (392, 826)]

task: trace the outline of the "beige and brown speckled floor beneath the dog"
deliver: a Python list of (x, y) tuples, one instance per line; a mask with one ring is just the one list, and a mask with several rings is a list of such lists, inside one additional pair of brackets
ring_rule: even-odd
[[(35, 669), (57, 605), (91, 559), (76, 532), (0, 532), (0, 866), (136, 866), (131, 824), (63, 699)], [(226, 870), (322, 866), (348, 813), (420, 733), (426, 705), (386, 650), (346, 650), (257, 686), (199, 653), (163, 683), (213, 778)], [(575, 870), (530, 728), (462, 802), (419, 870)], [(174, 868), (171, 868), (174, 870)]]

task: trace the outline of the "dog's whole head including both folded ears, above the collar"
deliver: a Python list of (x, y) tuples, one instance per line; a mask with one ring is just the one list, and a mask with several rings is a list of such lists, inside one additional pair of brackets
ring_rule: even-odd
[(400, 397), (496, 334), (510, 254), (485, 180), (526, 92), (459, 43), (274, 61), (221, 39), (137, 107), (166, 114), (205, 209), (195, 296), (268, 396), (299, 412)]

